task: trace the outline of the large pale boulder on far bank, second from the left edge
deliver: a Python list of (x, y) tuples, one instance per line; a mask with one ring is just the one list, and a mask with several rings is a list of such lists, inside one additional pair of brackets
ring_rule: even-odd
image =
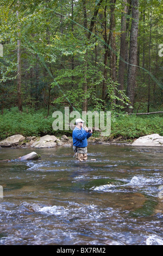
[(57, 145), (57, 138), (54, 135), (45, 135), (39, 139), (36, 139), (30, 147), (32, 148), (53, 148)]

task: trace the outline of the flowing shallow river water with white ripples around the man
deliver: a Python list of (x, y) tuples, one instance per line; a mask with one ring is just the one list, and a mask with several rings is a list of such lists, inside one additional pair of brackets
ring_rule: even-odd
[(0, 245), (163, 245), (163, 149), (89, 145), (77, 162), (58, 147), (16, 160), (31, 151), (0, 149)]

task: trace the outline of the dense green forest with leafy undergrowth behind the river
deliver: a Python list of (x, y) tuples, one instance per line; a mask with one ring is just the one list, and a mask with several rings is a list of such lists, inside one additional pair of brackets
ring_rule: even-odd
[(1, 138), (53, 133), (52, 113), (66, 106), (111, 111), (115, 137), (161, 135), (162, 0), (0, 5)]

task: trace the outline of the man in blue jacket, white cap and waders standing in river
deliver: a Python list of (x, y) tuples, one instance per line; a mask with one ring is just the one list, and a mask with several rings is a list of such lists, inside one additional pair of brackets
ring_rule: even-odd
[(79, 161), (87, 160), (87, 139), (91, 137), (92, 130), (83, 128), (84, 121), (81, 118), (76, 120), (76, 127), (72, 132), (73, 151)]

